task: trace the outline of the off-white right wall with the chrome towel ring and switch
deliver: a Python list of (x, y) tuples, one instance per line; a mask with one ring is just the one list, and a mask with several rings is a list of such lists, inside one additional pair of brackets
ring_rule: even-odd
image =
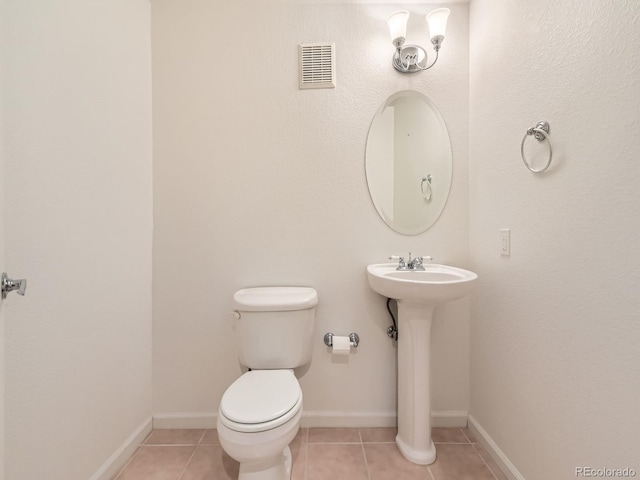
[(471, 413), (527, 480), (640, 471), (639, 22), (635, 0), (471, 6)]

